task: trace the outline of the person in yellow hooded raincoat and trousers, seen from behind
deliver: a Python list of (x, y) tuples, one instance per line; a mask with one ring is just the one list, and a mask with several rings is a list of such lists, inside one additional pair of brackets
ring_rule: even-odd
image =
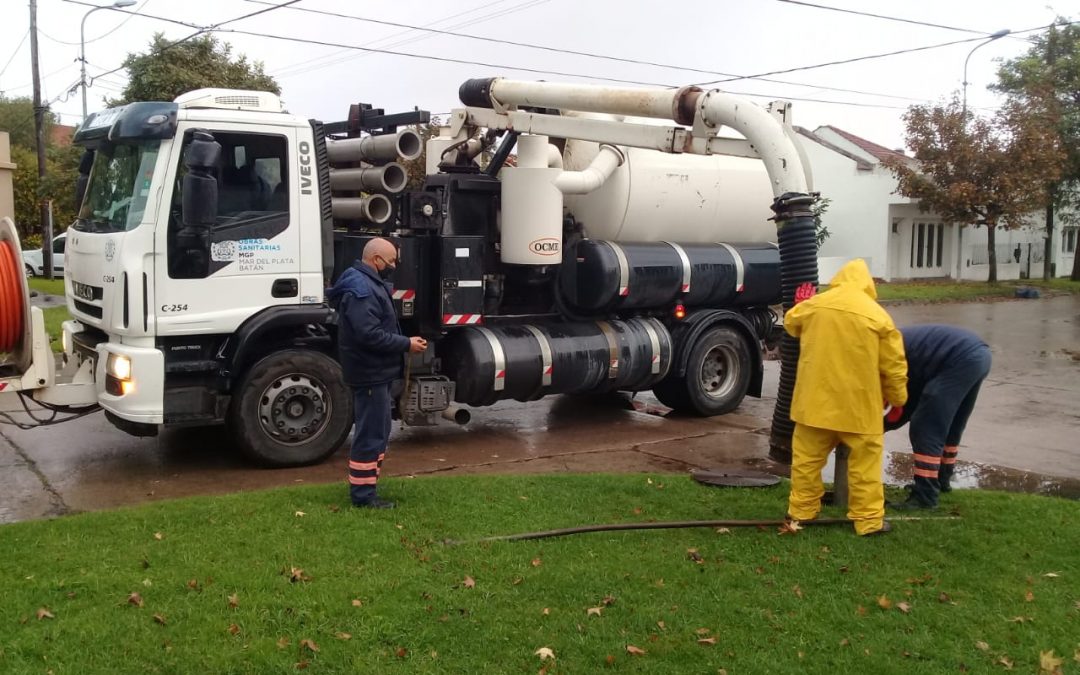
[(903, 337), (877, 303), (866, 262), (845, 265), (828, 291), (799, 301), (784, 315), (784, 328), (799, 338), (800, 348), (792, 399), (788, 516), (816, 517), (825, 491), (821, 471), (842, 443), (851, 449), (848, 517), (855, 532), (889, 531), (881, 486), (882, 409), (886, 402), (894, 407), (906, 403), (907, 361)]

